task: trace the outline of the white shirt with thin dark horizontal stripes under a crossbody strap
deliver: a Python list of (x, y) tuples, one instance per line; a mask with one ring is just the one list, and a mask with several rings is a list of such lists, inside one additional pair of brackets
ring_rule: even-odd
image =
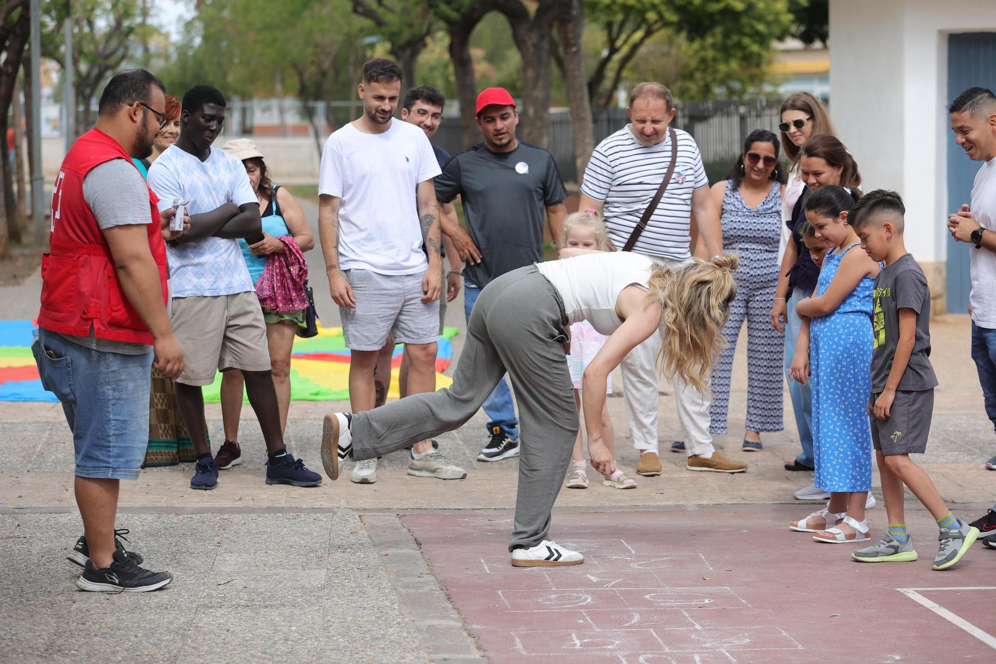
[[(695, 140), (687, 132), (674, 132), (678, 141), (674, 173), (633, 251), (681, 259), (690, 255), (691, 192), (708, 186), (709, 180)], [(653, 199), (670, 161), (669, 133), (660, 145), (647, 146), (633, 136), (628, 125), (592, 153), (581, 190), (605, 202), (603, 214), (609, 237), (619, 248)]]

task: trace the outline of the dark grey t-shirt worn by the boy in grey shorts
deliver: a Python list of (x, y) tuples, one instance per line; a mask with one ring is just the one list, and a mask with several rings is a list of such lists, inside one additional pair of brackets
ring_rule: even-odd
[(899, 309), (916, 312), (916, 335), (913, 352), (897, 389), (915, 392), (936, 387), (937, 377), (929, 359), (930, 288), (912, 254), (907, 253), (878, 272), (872, 301), (874, 350), (871, 354), (871, 391), (877, 394), (884, 390), (888, 373), (892, 370), (892, 358), (899, 343)]

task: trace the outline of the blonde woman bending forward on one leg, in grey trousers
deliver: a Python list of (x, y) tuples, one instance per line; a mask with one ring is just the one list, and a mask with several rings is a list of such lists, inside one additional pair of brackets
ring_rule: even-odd
[(512, 564), (583, 562), (581, 553), (546, 538), (578, 433), (565, 354), (568, 328), (587, 320), (609, 336), (585, 370), (582, 400), (592, 466), (611, 475), (616, 463), (602, 424), (609, 374), (659, 331), (663, 372), (705, 389), (736, 295), (732, 270), (738, 259), (720, 256), (670, 270), (630, 252), (569, 248), (561, 256), (567, 259), (521, 267), (481, 291), (449, 388), (327, 416), (322, 460), (329, 477), (339, 477), (341, 460), (373, 459), (461, 427), (507, 372), (522, 423)]

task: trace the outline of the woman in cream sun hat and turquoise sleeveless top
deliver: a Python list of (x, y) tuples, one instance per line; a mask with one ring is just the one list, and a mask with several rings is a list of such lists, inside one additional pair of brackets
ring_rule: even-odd
[[(315, 246), (308, 220), (301, 204), (286, 188), (273, 184), (270, 173), (263, 161), (263, 154), (249, 139), (229, 141), (221, 148), (242, 160), (249, 181), (259, 199), (260, 217), (263, 221), (263, 239), (248, 244), (239, 239), (242, 257), (249, 268), (249, 276), (255, 283), (263, 273), (266, 257), (271, 253), (287, 250), (281, 237), (292, 237), (301, 251)], [(299, 327), (305, 327), (305, 310), (272, 311), (263, 309), (266, 321), (266, 339), (270, 350), (270, 367), (273, 385), (277, 389), (277, 405), (280, 408), (280, 430), (287, 428), (287, 411), (291, 405), (291, 351), (294, 337)], [(237, 370), (226, 371), (221, 377), (221, 418), (225, 429), (225, 442), (215, 455), (214, 462), (219, 469), (227, 469), (242, 463), (239, 448), (239, 417), (242, 413), (243, 380)]]

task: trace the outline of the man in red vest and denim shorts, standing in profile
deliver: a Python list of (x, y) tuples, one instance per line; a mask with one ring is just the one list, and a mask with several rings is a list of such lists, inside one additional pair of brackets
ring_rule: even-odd
[(148, 442), (150, 367), (170, 378), (183, 353), (166, 313), (164, 239), (172, 210), (131, 158), (151, 154), (165, 124), (165, 88), (125, 70), (101, 95), (96, 127), (70, 149), (52, 194), (50, 253), (42, 259), (42, 307), (32, 345), (45, 389), (62, 402), (76, 449), (83, 516), (70, 560), (83, 590), (142, 592), (172, 580), (139, 565), (116, 538), (120, 480), (135, 480)]

